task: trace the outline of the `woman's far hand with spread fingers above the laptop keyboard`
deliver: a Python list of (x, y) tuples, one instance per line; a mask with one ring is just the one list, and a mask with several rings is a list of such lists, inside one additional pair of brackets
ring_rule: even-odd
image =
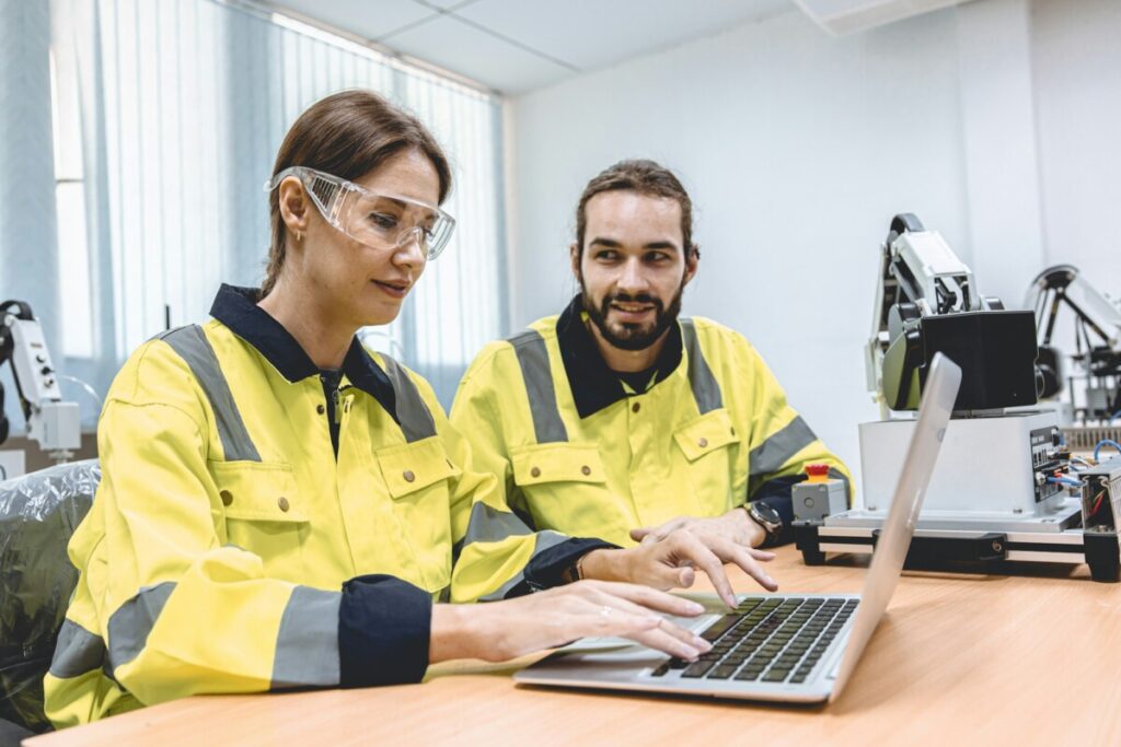
[(724, 572), (724, 563), (735, 563), (761, 587), (775, 591), (778, 583), (759, 564), (773, 558), (772, 552), (753, 550), (717, 534), (678, 529), (661, 540), (642, 542), (637, 548), (593, 550), (584, 557), (581, 570), (585, 578), (673, 589), (693, 586), (694, 568), (700, 568), (708, 575), (724, 604), (734, 607), (735, 592)]

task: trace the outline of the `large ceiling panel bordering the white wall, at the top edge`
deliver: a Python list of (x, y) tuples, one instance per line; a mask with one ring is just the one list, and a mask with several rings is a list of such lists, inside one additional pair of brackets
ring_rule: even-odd
[(794, 8), (791, 0), (478, 0), (455, 12), (594, 69)]

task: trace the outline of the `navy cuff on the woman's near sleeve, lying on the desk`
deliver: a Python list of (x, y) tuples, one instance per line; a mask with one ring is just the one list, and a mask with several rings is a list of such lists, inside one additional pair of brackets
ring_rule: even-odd
[(343, 583), (339, 679), (344, 688), (419, 682), (428, 669), (432, 595), (381, 573)]

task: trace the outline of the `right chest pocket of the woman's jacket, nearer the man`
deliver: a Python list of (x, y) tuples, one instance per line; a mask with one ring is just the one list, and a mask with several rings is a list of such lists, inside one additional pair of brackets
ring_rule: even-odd
[(413, 549), (423, 586), (442, 591), (452, 578), (450, 478), (455, 468), (439, 437), (374, 452), (393, 514)]

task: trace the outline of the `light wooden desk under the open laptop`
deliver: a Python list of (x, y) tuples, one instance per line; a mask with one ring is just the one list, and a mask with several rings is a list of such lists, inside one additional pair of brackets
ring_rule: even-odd
[[(771, 572), (784, 591), (845, 592), (865, 567), (807, 568), (784, 548)], [(458, 663), (419, 685), (191, 698), (26, 744), (1121, 745), (1121, 585), (1085, 568), (1010, 572), (905, 572), (823, 708), (530, 689), (510, 680), (517, 666)]]

